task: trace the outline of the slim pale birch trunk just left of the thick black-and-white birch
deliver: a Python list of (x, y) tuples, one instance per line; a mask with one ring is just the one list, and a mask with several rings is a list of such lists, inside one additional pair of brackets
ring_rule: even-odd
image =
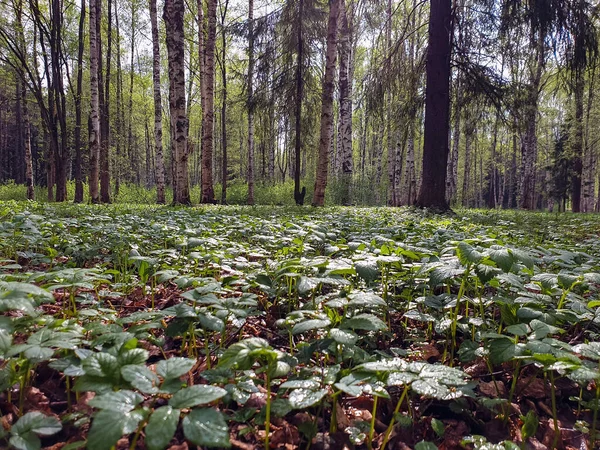
[(160, 93), (160, 40), (156, 0), (150, 0), (150, 23), (152, 28), (152, 82), (154, 90), (154, 154), (156, 157), (156, 202), (166, 203), (165, 162), (162, 149), (162, 95)]

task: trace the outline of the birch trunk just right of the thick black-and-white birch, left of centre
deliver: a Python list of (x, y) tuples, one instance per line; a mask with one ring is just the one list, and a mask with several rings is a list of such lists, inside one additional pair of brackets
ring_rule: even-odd
[(208, 0), (208, 33), (204, 49), (204, 107), (202, 109), (202, 203), (214, 203), (213, 127), (215, 84), (215, 38), (217, 32), (217, 0)]

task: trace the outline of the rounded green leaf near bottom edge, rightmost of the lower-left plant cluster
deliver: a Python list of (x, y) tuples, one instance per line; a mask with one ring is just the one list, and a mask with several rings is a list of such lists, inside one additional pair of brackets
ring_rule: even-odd
[(183, 419), (183, 434), (196, 445), (231, 447), (223, 414), (212, 408), (194, 409)]

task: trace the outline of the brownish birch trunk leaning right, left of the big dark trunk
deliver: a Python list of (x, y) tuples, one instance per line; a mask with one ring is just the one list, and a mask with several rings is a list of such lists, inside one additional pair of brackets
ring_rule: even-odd
[(333, 90), (335, 88), (335, 64), (337, 59), (337, 21), (340, 14), (340, 0), (329, 0), (329, 20), (327, 23), (327, 48), (325, 56), (325, 75), (323, 78), (323, 97), (321, 105), (321, 137), (319, 139), (319, 155), (313, 206), (325, 204), (325, 187), (327, 186), (327, 166), (329, 149), (333, 131)]

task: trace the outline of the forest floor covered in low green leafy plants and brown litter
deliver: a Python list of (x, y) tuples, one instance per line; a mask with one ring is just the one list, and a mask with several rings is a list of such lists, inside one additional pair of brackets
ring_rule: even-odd
[(0, 202), (0, 447), (593, 449), (600, 217)]

